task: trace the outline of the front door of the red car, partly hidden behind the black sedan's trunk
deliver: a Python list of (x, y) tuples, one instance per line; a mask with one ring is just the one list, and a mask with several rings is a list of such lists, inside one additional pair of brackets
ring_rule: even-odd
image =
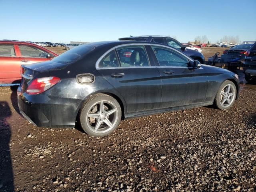
[(19, 44), (18, 48), (20, 51), (20, 64), (32, 64), (52, 59), (46, 58), (49, 53), (36, 46)]

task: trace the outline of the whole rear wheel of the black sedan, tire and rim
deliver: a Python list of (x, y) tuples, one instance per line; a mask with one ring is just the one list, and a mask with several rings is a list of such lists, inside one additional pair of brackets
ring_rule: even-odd
[(120, 104), (113, 97), (95, 94), (84, 102), (79, 120), (84, 132), (94, 137), (103, 137), (118, 127), (121, 116)]

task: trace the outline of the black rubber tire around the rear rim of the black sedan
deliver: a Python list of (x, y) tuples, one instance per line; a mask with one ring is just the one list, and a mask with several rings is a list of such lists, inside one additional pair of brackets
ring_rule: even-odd
[[(105, 133), (95, 133), (92, 130), (90, 130), (90, 128), (87, 125), (87, 120), (86, 120), (86, 115), (88, 113), (88, 110), (90, 110), (90, 108), (92, 107), (93, 104), (95, 104), (96, 102), (99, 102), (101, 100), (106, 100), (106, 101), (110, 101), (112, 102), (117, 110), (118, 110), (118, 119), (117, 122), (115, 124), (115, 126), (109, 130), (108, 132)], [(88, 101), (85, 102), (84, 107), (82, 108), (82, 110), (80, 111), (80, 124), (82, 129), (84, 130), (84, 132), (86, 132), (87, 134), (94, 136), (94, 137), (103, 137), (106, 136), (110, 133), (112, 133), (114, 130), (116, 130), (116, 128), (118, 127), (120, 121), (121, 121), (121, 117), (122, 117), (122, 110), (121, 107), (119, 105), (119, 103), (111, 96), (107, 96), (107, 95), (101, 95), (98, 96), (96, 98), (92, 98), (92, 99), (88, 99)]]

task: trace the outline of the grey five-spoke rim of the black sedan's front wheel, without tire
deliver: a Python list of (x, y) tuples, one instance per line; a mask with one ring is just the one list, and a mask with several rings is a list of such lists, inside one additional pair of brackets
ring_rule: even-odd
[(220, 104), (222, 107), (229, 107), (235, 99), (235, 88), (232, 84), (227, 84), (220, 92)]

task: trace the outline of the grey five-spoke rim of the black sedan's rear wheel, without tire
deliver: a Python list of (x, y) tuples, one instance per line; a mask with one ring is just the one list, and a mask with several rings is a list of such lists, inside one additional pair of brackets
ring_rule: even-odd
[(110, 101), (99, 101), (91, 106), (86, 115), (86, 122), (90, 130), (95, 133), (108, 132), (118, 121), (118, 110)]

